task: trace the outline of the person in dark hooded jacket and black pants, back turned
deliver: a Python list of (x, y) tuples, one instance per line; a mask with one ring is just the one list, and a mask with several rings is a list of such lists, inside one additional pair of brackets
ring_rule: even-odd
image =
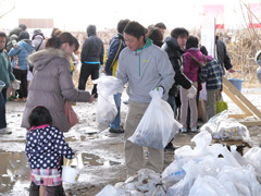
[[(91, 75), (91, 79), (99, 78), (100, 65), (103, 65), (104, 47), (102, 40), (96, 34), (96, 25), (87, 27), (87, 38), (80, 52), (80, 73), (78, 81), (78, 89), (85, 89), (86, 82)], [(98, 98), (97, 84), (94, 85), (91, 95)]]

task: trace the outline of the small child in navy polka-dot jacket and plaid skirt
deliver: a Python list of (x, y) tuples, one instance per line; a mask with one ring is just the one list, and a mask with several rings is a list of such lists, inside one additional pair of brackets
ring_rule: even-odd
[(30, 196), (65, 196), (61, 174), (63, 158), (73, 159), (75, 152), (63, 133), (52, 124), (52, 117), (44, 106), (35, 107), (29, 117), (25, 152), (30, 166)]

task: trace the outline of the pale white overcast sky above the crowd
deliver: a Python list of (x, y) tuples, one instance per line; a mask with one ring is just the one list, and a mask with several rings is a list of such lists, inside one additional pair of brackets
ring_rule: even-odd
[[(226, 27), (241, 25), (240, 0), (0, 0), (0, 14), (15, 9), (0, 19), (0, 28), (17, 26), (17, 19), (53, 19), (54, 27), (85, 30), (96, 24), (98, 30), (114, 28), (122, 19), (137, 21), (145, 27), (163, 22), (169, 29), (183, 26), (199, 28), (202, 4), (224, 4)], [(246, 2), (259, 2), (250, 0)]]

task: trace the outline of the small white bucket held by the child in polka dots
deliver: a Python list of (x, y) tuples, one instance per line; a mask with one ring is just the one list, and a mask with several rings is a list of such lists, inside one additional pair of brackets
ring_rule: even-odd
[(78, 169), (78, 158), (76, 156), (77, 166), (72, 168), (69, 166), (70, 160), (67, 160), (66, 166), (63, 166), (62, 170), (62, 181), (67, 183), (77, 183), (79, 177), (80, 169)]

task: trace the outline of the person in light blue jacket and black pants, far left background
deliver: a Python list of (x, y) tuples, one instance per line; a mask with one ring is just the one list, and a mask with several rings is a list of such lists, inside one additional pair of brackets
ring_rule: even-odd
[(13, 47), (9, 51), (10, 57), (18, 57), (18, 61), (16, 63), (15, 59), (12, 60), (12, 68), (15, 77), (21, 81), (18, 93), (18, 99), (15, 101), (26, 101), (27, 98), (27, 73), (28, 73), (28, 62), (27, 57), (34, 52), (35, 47), (29, 40), (29, 34), (27, 32), (21, 32), (18, 36), (20, 41), (17, 42), (17, 47)]

